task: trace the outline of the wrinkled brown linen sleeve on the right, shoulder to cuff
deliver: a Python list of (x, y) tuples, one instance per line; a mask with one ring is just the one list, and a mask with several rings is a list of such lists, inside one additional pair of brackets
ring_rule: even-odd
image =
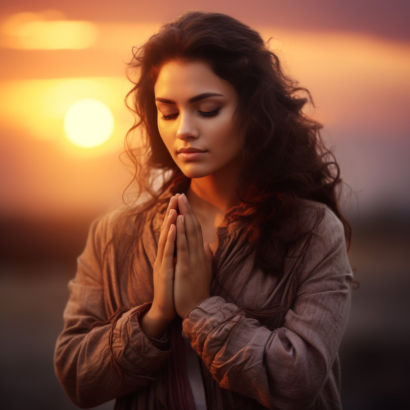
[(350, 313), (353, 273), (343, 225), (326, 207), (313, 233), (282, 327), (269, 330), (220, 296), (198, 303), (182, 322), (219, 385), (269, 409), (314, 403), (332, 371)]

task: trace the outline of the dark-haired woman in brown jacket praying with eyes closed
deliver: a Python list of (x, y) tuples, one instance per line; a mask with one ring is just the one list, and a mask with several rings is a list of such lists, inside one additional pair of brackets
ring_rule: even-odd
[(91, 225), (55, 349), (64, 390), (83, 408), (340, 409), (351, 229), (310, 94), (224, 14), (165, 24), (130, 68), (127, 150), (151, 199)]

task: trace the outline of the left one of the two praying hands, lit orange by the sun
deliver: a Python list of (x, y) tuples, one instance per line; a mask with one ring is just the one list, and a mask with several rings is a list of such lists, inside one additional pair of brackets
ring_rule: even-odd
[(171, 322), (177, 316), (174, 303), (174, 246), (178, 196), (180, 194), (169, 201), (154, 263), (154, 300), (150, 310), (153, 311), (153, 316), (164, 322)]

